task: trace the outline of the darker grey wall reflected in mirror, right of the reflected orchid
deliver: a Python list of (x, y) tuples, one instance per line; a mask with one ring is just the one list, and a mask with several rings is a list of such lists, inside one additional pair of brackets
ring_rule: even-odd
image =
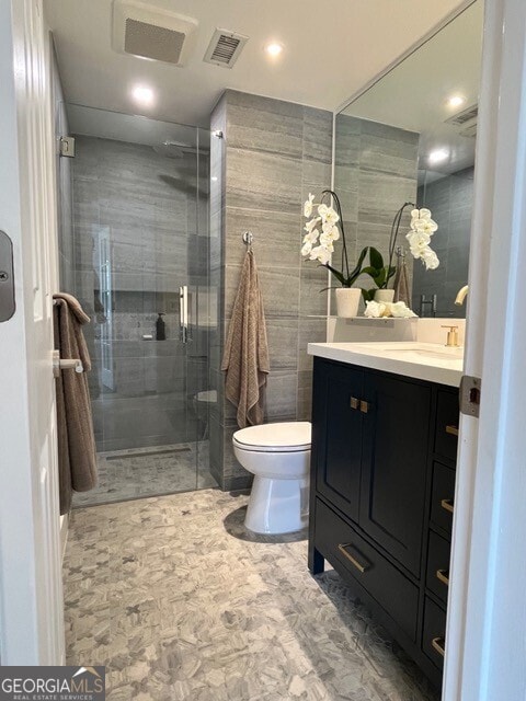
[[(433, 249), (441, 265), (426, 271), (414, 265), (413, 307), (420, 314), (420, 296), (436, 295), (437, 317), (466, 317), (466, 304), (457, 307), (455, 297), (468, 281), (469, 239), (473, 205), (473, 169), (468, 168), (419, 188), (419, 204), (433, 212), (438, 231), (433, 237)], [(428, 307), (424, 314), (428, 315)]]

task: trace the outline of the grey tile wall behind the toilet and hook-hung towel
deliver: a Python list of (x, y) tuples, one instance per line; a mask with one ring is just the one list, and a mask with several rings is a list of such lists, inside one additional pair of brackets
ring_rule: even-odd
[[(327, 271), (300, 256), (302, 202), (330, 186), (332, 114), (302, 105), (228, 90), (211, 116), (224, 131), (211, 146), (211, 269), (219, 306), (213, 372), (219, 392), (210, 423), (214, 475), (224, 489), (250, 484), (237, 462), (231, 437), (236, 410), (225, 400), (219, 371), (225, 333), (239, 283), (245, 246), (253, 250), (265, 304), (271, 355), (266, 421), (310, 417), (312, 361), (309, 341), (325, 340)], [(214, 139), (213, 139), (214, 141)]]

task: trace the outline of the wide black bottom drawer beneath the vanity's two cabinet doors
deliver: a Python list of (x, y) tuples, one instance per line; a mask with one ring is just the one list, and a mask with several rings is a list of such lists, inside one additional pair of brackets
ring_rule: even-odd
[(419, 589), (342, 518), (316, 501), (316, 548), (342, 574), (352, 577), (411, 640), (415, 640)]

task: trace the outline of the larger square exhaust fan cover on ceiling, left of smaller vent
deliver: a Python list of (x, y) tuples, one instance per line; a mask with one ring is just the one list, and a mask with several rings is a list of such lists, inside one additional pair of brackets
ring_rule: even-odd
[(188, 53), (196, 20), (158, 10), (144, 2), (115, 0), (113, 46), (141, 58), (181, 66)]

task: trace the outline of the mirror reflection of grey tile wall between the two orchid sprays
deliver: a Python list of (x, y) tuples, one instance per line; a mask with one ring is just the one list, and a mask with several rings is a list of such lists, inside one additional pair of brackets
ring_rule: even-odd
[[(378, 249), (387, 263), (395, 215), (403, 203), (416, 202), (419, 135), (343, 114), (336, 116), (335, 130), (334, 189), (342, 204), (350, 266), (366, 245)], [(398, 238), (407, 251), (409, 211)], [(338, 251), (340, 246), (335, 260)], [(405, 261), (411, 285), (411, 255)], [(356, 285), (374, 287), (366, 276)]]

